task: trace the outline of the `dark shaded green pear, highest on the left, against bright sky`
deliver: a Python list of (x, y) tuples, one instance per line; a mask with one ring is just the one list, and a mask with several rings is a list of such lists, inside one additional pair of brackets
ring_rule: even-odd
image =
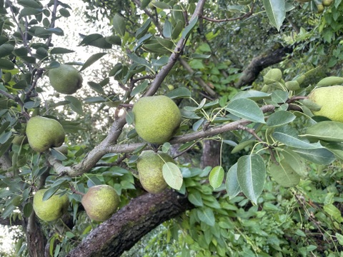
[(49, 70), (51, 86), (61, 94), (74, 94), (82, 86), (82, 76), (71, 65), (61, 64), (58, 68)]

